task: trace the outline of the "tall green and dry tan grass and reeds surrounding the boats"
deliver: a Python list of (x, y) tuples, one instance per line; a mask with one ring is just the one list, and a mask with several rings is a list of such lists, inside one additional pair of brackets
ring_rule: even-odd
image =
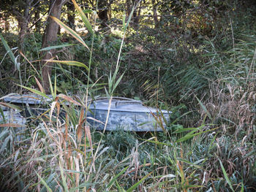
[[(77, 4), (75, 7), (94, 37), (93, 25)], [(123, 19), (124, 32), (131, 15), (127, 23)], [(88, 81), (81, 88), (84, 94), (80, 97), (57, 94), (56, 74), (54, 80), (49, 77), (53, 81), (50, 83), (53, 99), (45, 118), (28, 123), (21, 140), (15, 134), (15, 125), (1, 122), (1, 191), (256, 190), (254, 35), (239, 37), (225, 52), (207, 40), (203, 57), (208, 58), (208, 63), (203, 69), (192, 65), (175, 74), (166, 70), (163, 75), (158, 70), (157, 82), (145, 83), (152, 98), (157, 96), (157, 104), (166, 105), (163, 99), (166, 94), (160, 93), (171, 87), (174, 91), (167, 96), (176, 93), (180, 96), (178, 100), (189, 101), (200, 118), (194, 116), (195, 126), (185, 127), (176, 123), (182, 123), (188, 113), (182, 118), (178, 115), (166, 132), (140, 136), (122, 130), (96, 131), (86, 123), (89, 96), (94, 96), (98, 85), (98, 80), (91, 80), (94, 38), (87, 45), (75, 31), (60, 20), (56, 22), (86, 47), (90, 59), (88, 64), (72, 60), (49, 62), (59, 63), (59, 68), (67, 64), (85, 69), (83, 74)], [(123, 42), (124, 37), (121, 48)], [(118, 74), (121, 48), (114, 71), (108, 74), (105, 84), (110, 101), (124, 77)], [(21, 87), (48, 98), (37, 78), (35, 81), (40, 91)], [(65, 115), (61, 115), (61, 110)]]

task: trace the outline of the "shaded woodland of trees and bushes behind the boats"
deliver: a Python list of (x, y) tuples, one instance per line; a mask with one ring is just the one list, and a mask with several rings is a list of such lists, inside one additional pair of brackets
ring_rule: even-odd
[[(121, 55), (120, 75), (124, 72), (124, 77), (116, 95), (143, 99), (151, 104), (158, 97), (168, 106), (197, 110), (195, 96), (203, 99), (204, 104), (214, 104), (219, 103), (218, 99), (230, 97), (220, 96), (228, 90), (227, 85), (245, 88), (243, 82), (235, 82), (233, 78), (248, 71), (244, 66), (248, 68), (253, 58), (255, 1), (100, 0), (78, 1), (78, 4), (96, 28), (91, 78), (93, 82), (99, 79), (102, 83), (115, 67), (122, 17), (128, 16), (136, 5)], [(20, 91), (17, 84), (37, 88), (34, 76), (38, 75), (28, 61), (38, 70), (37, 78), (46, 83), (45, 88), (49, 88), (50, 72), (52, 78), (57, 74), (59, 92), (78, 93), (87, 80), (83, 70), (70, 66), (48, 67), (50, 64), (45, 66), (44, 60), (57, 57), (88, 64), (88, 50), (75, 45), (39, 51), (52, 45), (77, 43), (48, 18), (49, 12), (91, 44), (91, 34), (80, 23), (72, 2), (1, 1), (0, 7), (0, 30), (17, 58), (13, 64), (1, 46), (0, 94)], [(96, 23), (90, 11), (97, 12)], [(246, 50), (236, 47), (241, 44)], [(239, 58), (242, 52), (245, 58)], [(104, 93), (103, 88), (94, 94), (100, 93)], [(220, 108), (211, 109), (214, 110), (212, 116), (218, 115)]]

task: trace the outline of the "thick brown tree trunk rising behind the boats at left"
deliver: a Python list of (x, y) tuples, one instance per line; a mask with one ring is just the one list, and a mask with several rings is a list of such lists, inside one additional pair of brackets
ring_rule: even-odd
[[(60, 18), (61, 7), (66, 0), (50, 0), (49, 15)], [(47, 20), (47, 26), (45, 28), (45, 33), (42, 37), (42, 48), (53, 45), (57, 40), (57, 34), (59, 31), (59, 25), (50, 17)], [(45, 60), (53, 58), (55, 51), (48, 50), (42, 58), (42, 85), (45, 89), (45, 93), (50, 93), (50, 82), (48, 75), (51, 75), (53, 63), (46, 63)]]

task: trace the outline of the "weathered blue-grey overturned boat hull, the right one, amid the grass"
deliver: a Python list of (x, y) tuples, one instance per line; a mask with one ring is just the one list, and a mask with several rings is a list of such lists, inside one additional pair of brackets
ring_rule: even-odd
[[(107, 131), (124, 129), (124, 131), (163, 131), (169, 120), (170, 112), (146, 107), (142, 101), (114, 97), (110, 104), (108, 116), (109, 99), (97, 99), (90, 105), (88, 119), (91, 126)], [(105, 121), (108, 116), (108, 123)], [(101, 123), (99, 122), (101, 121)]]

